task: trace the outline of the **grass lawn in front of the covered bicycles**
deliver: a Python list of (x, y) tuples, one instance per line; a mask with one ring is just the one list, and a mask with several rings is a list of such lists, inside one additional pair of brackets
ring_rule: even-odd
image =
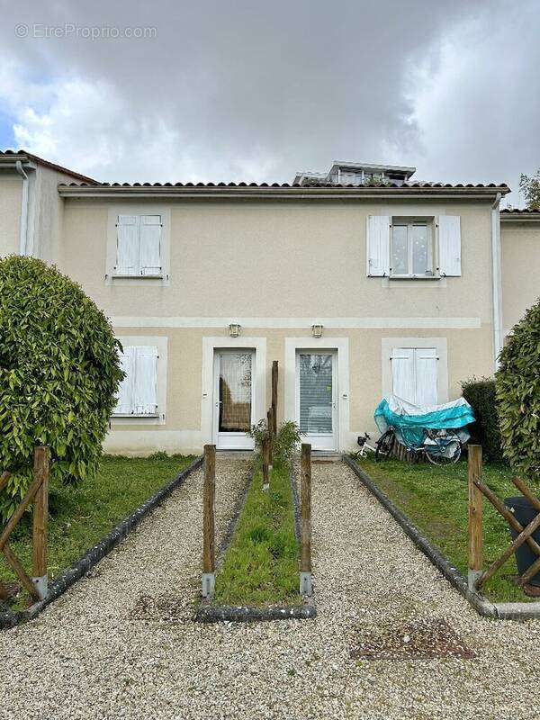
[[(448, 560), (467, 575), (468, 483), (467, 462), (461, 460), (450, 467), (431, 464), (408, 464), (399, 461), (375, 463), (365, 459), (359, 466), (409, 516)], [(519, 492), (510, 482), (511, 473), (504, 465), (484, 464), (483, 481), (500, 499)], [(483, 500), (484, 570), (510, 543), (509, 526), (491, 503)], [(515, 556), (509, 559), (495, 577), (483, 587), (493, 601), (524, 602), (527, 595), (504, 579), (517, 574)]]

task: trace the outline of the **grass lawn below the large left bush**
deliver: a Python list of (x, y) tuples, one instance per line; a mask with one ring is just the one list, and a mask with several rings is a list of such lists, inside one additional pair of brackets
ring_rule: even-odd
[[(105, 455), (93, 481), (50, 486), (49, 581), (192, 461), (192, 456), (184, 455), (162, 458)], [(15, 528), (10, 545), (31, 574), (31, 513)], [(17, 581), (4, 554), (0, 554), (0, 581)], [(29, 596), (20, 596), (17, 606), (25, 605), (28, 599)]]

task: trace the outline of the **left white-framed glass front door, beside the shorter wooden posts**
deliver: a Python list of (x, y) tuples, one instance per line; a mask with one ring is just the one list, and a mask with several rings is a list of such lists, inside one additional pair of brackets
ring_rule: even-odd
[(247, 430), (254, 423), (253, 350), (227, 349), (214, 353), (213, 436), (221, 450), (252, 450)]

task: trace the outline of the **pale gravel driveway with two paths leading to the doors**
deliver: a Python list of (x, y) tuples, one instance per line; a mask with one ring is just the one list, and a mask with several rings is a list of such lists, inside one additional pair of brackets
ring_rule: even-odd
[[(218, 461), (221, 535), (246, 473)], [(343, 464), (313, 466), (319, 617), (193, 623), (201, 493), (197, 471), (91, 578), (0, 634), (2, 720), (540, 712), (540, 622), (478, 617)]]

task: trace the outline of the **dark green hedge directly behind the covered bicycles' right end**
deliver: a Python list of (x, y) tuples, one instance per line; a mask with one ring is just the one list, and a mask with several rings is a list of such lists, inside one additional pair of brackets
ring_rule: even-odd
[(471, 442), (482, 446), (483, 455), (491, 462), (501, 462), (502, 438), (500, 437), (495, 380), (493, 378), (471, 378), (462, 383), (464, 399), (473, 406), (476, 422), (469, 428)]

